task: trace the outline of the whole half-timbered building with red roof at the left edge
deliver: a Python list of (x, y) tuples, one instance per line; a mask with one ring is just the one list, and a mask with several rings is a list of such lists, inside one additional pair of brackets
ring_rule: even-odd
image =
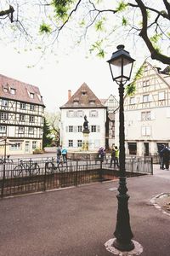
[(0, 75), (1, 155), (42, 148), (44, 108), (37, 86)]

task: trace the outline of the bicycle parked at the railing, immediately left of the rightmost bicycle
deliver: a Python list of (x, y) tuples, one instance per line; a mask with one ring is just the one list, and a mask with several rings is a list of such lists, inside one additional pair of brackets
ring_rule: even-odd
[(40, 173), (40, 166), (32, 160), (23, 161), (20, 160), (20, 164), (14, 167), (13, 176), (20, 177), (22, 172), (28, 172), (30, 176), (35, 176)]

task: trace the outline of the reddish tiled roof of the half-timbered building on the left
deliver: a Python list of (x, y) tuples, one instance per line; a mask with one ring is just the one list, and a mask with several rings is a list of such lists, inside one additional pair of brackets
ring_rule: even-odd
[[(11, 93), (11, 90), (15, 93)], [(0, 97), (44, 106), (37, 86), (8, 78), (2, 74), (0, 74)]]

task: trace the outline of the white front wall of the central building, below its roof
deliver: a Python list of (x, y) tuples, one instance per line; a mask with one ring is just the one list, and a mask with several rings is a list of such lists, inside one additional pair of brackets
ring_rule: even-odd
[[(68, 117), (68, 111), (74, 112), (73, 117)], [(96, 111), (97, 116), (92, 117), (90, 112)], [(77, 111), (82, 111), (82, 115), (77, 117)], [(83, 133), (78, 131), (78, 126), (82, 126), (84, 116), (88, 119), (88, 150), (96, 151), (100, 146), (105, 147), (105, 121), (106, 121), (106, 109), (105, 108), (78, 108), (78, 109), (61, 109), (61, 126), (60, 126), (60, 143), (62, 147), (66, 147), (69, 150), (82, 150), (82, 148), (77, 147), (78, 140), (84, 140)], [(92, 125), (96, 126), (96, 131), (92, 131)], [(73, 126), (73, 131), (69, 132), (69, 126)], [(73, 141), (73, 147), (69, 147), (69, 140)]]

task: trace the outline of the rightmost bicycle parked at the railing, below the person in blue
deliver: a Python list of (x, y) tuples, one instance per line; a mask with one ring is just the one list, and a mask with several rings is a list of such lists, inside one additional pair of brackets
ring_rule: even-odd
[(55, 170), (58, 170), (59, 172), (65, 172), (67, 167), (67, 162), (60, 160), (59, 163), (57, 163), (54, 159), (52, 159), (45, 163), (45, 172), (54, 173)]

